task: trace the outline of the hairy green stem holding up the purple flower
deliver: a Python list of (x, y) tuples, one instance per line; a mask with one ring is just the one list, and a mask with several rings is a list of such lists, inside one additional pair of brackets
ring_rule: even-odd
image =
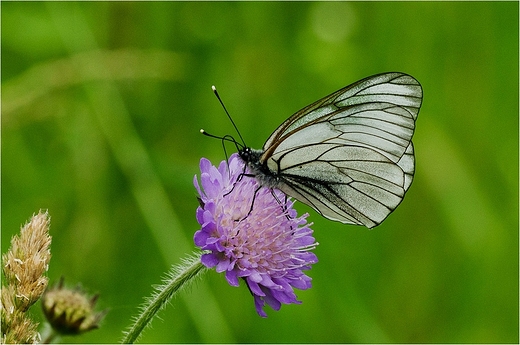
[(150, 324), (154, 316), (170, 299), (189, 285), (199, 273), (205, 271), (206, 266), (200, 262), (201, 253), (195, 253), (184, 259), (182, 264), (173, 266), (163, 284), (157, 286), (151, 297), (148, 297), (141, 306), (141, 313), (134, 319), (134, 323), (125, 332), (121, 344), (133, 344), (142, 331)]

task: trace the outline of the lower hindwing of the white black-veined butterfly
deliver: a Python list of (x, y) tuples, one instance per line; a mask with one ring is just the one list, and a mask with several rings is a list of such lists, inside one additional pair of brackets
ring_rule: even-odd
[[(309, 161), (293, 157), (319, 149), (323, 153)], [(278, 188), (333, 220), (372, 228), (397, 207), (405, 193), (402, 169), (364, 147), (302, 146), (287, 152), (282, 162), (286, 160), (298, 162), (284, 166), (283, 183)]]

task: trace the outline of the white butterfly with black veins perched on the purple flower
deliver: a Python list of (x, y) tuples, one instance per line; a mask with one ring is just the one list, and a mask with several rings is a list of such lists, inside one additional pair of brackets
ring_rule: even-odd
[(261, 186), (279, 189), (328, 219), (373, 228), (412, 183), (412, 136), (422, 96), (410, 75), (377, 74), (296, 112), (261, 150), (232, 141)]

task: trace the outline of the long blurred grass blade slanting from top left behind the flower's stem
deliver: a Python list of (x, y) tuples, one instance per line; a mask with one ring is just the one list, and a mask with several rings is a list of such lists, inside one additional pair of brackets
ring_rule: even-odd
[[(74, 55), (77, 51), (85, 49), (97, 49), (91, 29), (83, 14), (77, 10), (76, 3), (46, 4), (56, 27), (60, 28), (59, 33), (70, 54)], [(76, 15), (66, 15), (69, 11), (76, 12)], [(70, 27), (74, 27), (75, 30), (68, 30)], [(78, 67), (77, 73), (82, 76), (81, 79), (86, 79), (86, 75), (89, 74), (88, 66)], [(106, 66), (99, 68), (108, 71)], [(161, 255), (166, 263), (171, 264), (185, 253), (191, 252), (191, 238), (187, 238), (181, 228), (116, 85), (107, 79), (95, 84), (84, 84), (84, 91), (114, 157), (131, 185), (134, 198), (160, 248)], [(212, 309), (203, 310), (188, 303), (186, 307), (201, 339), (204, 342), (233, 342), (226, 318), (218, 307), (213, 292), (205, 282), (200, 283), (199, 289), (207, 299), (206, 305)], [(207, 327), (207, 320), (212, 321), (211, 327)], [(218, 329), (219, 332), (214, 332), (214, 329)]]

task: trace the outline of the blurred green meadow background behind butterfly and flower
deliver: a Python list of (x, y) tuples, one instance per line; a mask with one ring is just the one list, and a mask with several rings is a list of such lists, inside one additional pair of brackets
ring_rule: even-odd
[[(518, 339), (518, 2), (2, 2), (2, 252), (52, 217), (49, 277), (110, 308), (65, 342), (117, 342), (190, 253), (201, 157), (260, 148), (303, 106), (402, 71), (424, 88), (417, 171), (367, 230), (309, 212), (320, 262), (301, 305), (260, 318), (208, 271), (146, 343)], [(228, 148), (230, 151), (232, 147)], [(35, 308), (36, 318), (41, 317)]]

